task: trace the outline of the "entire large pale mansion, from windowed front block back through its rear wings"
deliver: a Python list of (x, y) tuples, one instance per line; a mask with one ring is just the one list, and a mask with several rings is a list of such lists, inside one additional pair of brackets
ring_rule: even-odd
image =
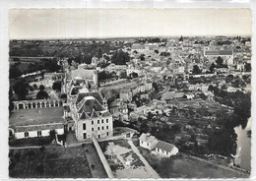
[[(94, 70), (93, 70), (94, 71)], [(91, 74), (90, 75), (88, 75)], [(113, 120), (106, 99), (96, 89), (96, 72), (83, 69), (71, 72), (67, 80), (67, 101), (73, 120), (68, 130), (74, 130), (78, 141), (105, 138), (113, 135)]]

